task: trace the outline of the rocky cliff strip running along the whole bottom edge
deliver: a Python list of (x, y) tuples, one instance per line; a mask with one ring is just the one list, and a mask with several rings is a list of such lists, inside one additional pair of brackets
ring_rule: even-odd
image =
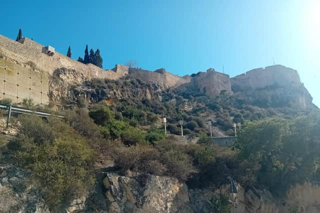
[[(273, 198), (266, 190), (237, 188), (237, 213), (320, 211), (318, 185), (297, 185), (284, 200)], [(216, 199), (223, 196), (231, 202), (228, 186), (213, 191), (188, 189), (175, 178), (130, 172), (122, 176), (117, 171), (98, 172), (95, 187), (90, 192), (76, 194), (63, 207), (49, 211), (42, 196), (41, 186), (32, 182), (27, 170), (0, 168), (0, 212), (3, 213), (218, 213)]]

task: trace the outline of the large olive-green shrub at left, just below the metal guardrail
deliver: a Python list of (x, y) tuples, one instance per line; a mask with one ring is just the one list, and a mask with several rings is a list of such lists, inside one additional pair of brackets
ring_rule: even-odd
[(19, 118), (19, 135), (9, 149), (19, 167), (28, 168), (44, 186), (45, 201), (56, 207), (93, 183), (94, 155), (85, 138), (59, 119)]

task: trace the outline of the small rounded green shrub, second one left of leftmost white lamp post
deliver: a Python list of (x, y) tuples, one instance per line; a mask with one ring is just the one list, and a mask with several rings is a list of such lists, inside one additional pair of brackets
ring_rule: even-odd
[(129, 127), (123, 130), (121, 140), (125, 145), (145, 144), (145, 133), (137, 128)]

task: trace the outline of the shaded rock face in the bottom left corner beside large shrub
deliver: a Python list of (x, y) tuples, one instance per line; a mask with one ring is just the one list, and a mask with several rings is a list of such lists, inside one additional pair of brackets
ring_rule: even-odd
[(30, 175), (15, 167), (0, 168), (1, 213), (50, 213)]

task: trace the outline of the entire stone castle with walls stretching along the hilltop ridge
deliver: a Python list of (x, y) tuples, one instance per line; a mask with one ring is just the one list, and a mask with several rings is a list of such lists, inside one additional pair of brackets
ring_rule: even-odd
[(101, 69), (92, 64), (80, 63), (58, 52), (47, 54), (45, 49), (45, 46), (25, 37), (14, 41), (0, 35), (1, 99), (10, 98), (14, 102), (21, 102), (23, 98), (31, 98), (36, 104), (48, 104), (51, 101), (50, 87), (54, 79), (52, 76), (57, 75), (69, 85), (92, 78), (116, 80), (130, 75), (164, 87), (196, 90), (207, 96), (218, 95), (222, 90), (232, 93), (274, 84), (301, 84), (297, 71), (282, 65), (253, 69), (233, 78), (216, 72), (213, 68), (194, 77), (180, 77), (166, 72), (164, 68), (149, 71), (116, 64), (112, 69)]

